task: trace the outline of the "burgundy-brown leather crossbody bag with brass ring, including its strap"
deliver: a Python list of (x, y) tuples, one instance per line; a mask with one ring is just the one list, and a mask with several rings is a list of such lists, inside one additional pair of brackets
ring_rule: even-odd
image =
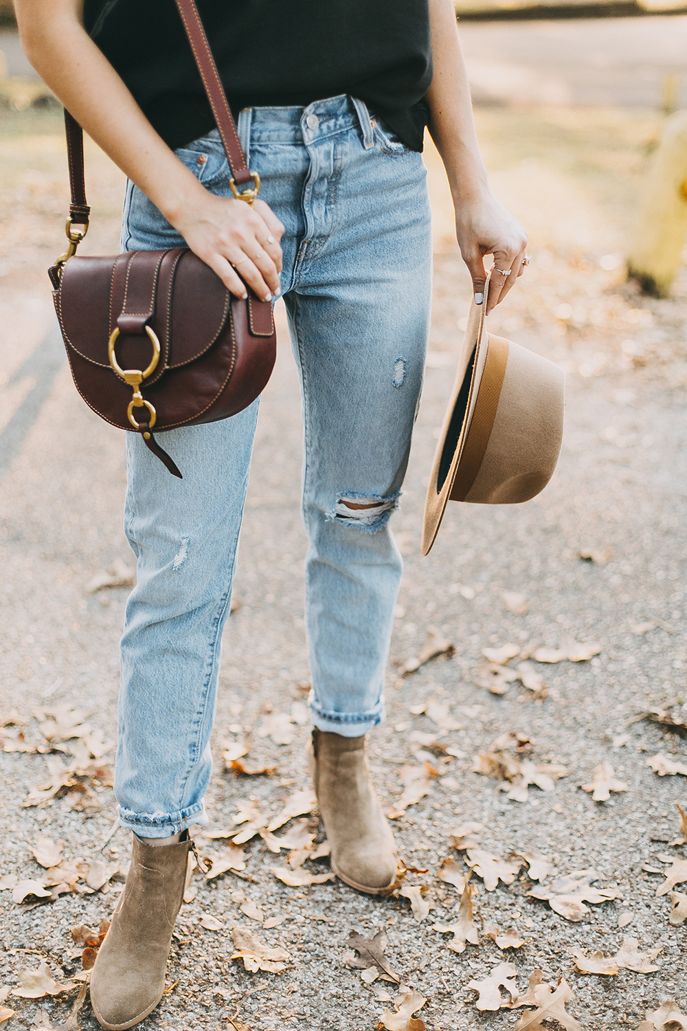
[[(175, 0), (212, 108), (237, 199), (251, 204), (260, 177), (246, 160), (194, 0)], [(71, 205), (69, 247), (49, 269), (76, 389), (93, 410), (141, 434), (175, 476), (152, 435), (229, 419), (261, 393), (274, 367), (272, 304), (248, 288), (234, 297), (185, 247), (75, 258), (89, 228), (83, 133), (65, 111)], [(75, 228), (77, 227), (77, 228)]]

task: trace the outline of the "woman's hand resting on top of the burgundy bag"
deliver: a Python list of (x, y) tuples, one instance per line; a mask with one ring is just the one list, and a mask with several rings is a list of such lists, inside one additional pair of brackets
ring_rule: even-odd
[(284, 227), (277, 217), (262, 200), (251, 206), (203, 194), (174, 219), (175, 229), (236, 297), (246, 296), (245, 284), (263, 300), (278, 297)]

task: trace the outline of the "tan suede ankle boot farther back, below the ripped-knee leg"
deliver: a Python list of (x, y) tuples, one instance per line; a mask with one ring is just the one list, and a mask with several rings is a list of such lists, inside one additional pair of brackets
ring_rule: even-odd
[(365, 737), (315, 729), (309, 763), (332, 846), (332, 869), (359, 892), (390, 891), (397, 878), (396, 845), (370, 780)]

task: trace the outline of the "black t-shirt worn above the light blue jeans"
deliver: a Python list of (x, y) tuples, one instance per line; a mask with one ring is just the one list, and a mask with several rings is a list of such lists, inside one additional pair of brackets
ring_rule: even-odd
[[(427, 0), (197, 0), (236, 118), (242, 107), (364, 100), (422, 149)], [(174, 0), (85, 0), (84, 25), (172, 147), (214, 127)]]

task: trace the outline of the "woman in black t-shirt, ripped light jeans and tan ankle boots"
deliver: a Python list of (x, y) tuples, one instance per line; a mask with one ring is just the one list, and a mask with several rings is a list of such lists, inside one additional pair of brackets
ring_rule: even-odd
[[(402, 563), (388, 528), (417, 410), (431, 294), (420, 158), (442, 156), (477, 302), (483, 256), (524, 268), (525, 234), (491, 195), (451, 0), (200, 0), (251, 171), (228, 166), (173, 0), (16, 0), (32, 64), (129, 177), (123, 247), (186, 244), (237, 296), (283, 293), (305, 419), (303, 510), (311, 768), (332, 866), (359, 891), (394, 883), (393, 838), (365, 736), (382, 719)], [(240, 277), (239, 274), (240, 273)], [(126, 889), (93, 971), (105, 1028), (162, 998), (192, 842), (205, 824), (221, 630), (257, 402), (165, 436), (184, 478), (128, 434), (126, 532), (138, 583), (122, 641), (115, 795), (133, 834)]]

